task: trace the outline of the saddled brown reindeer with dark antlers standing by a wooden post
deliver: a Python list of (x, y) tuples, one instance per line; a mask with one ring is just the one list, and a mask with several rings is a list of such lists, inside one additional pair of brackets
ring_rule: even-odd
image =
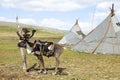
[[(35, 31), (33, 31), (34, 33)], [(22, 36), (17, 33), (19, 38)], [(34, 34), (32, 34), (34, 35)], [(55, 57), (56, 60), (56, 66), (55, 66), (55, 72), (53, 75), (56, 75), (58, 73), (58, 67), (60, 64), (59, 57), (61, 53), (63, 52), (63, 47), (54, 44), (53, 42), (47, 42), (47, 41), (41, 41), (41, 40), (35, 40), (34, 43), (29, 42), (29, 38), (27, 40), (25, 38), (22, 38), (22, 40), (18, 43), (18, 47), (25, 48), (29, 53), (33, 53), (39, 60), (39, 63), (42, 64), (43, 70), (40, 68), (39, 72), (47, 73), (45, 65), (44, 65), (44, 59), (43, 55), (46, 57)], [(40, 65), (40, 64), (39, 64)]]

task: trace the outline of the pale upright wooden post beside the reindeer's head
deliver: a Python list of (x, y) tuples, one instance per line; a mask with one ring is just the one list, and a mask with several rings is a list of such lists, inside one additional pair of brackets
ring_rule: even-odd
[[(18, 29), (18, 32), (21, 34), (21, 28), (19, 26), (19, 23), (18, 23), (18, 16), (16, 17), (16, 24), (17, 24), (17, 29)], [(19, 40), (20, 42), (21, 40)], [(22, 57), (22, 62), (23, 62), (23, 70), (26, 71), (27, 69), (27, 64), (26, 64), (26, 55), (24, 53), (24, 48), (20, 48), (20, 54), (21, 54), (21, 57)]]

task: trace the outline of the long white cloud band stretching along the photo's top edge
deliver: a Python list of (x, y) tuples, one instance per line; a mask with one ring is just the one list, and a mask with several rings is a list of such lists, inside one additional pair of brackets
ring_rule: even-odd
[(93, 5), (105, 10), (112, 3), (119, 5), (120, 2), (118, 0), (1, 0), (0, 6), (30, 11), (72, 11)]

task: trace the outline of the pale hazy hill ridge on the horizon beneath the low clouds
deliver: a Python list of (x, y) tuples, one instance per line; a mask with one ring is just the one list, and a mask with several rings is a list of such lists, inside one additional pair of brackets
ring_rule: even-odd
[[(2, 26), (17, 27), (17, 23), (0, 21), (0, 27)], [(23, 24), (23, 23), (19, 23), (19, 26), (37, 28), (37, 29), (41, 29), (42, 31), (47, 31), (47, 32), (52, 32), (52, 33), (57, 32), (57, 33), (65, 34), (67, 32), (66, 30), (59, 30), (55, 28), (48, 28), (48, 27), (42, 27), (42, 26), (34, 26), (34, 25), (28, 25), (28, 24)]]

